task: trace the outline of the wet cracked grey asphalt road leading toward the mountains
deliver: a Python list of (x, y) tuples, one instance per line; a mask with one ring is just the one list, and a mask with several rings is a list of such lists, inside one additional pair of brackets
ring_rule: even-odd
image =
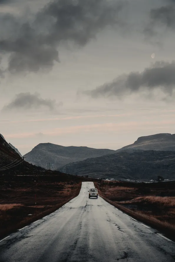
[(2, 262), (171, 262), (175, 243), (102, 198), (88, 198), (93, 182), (54, 213), (0, 242)]

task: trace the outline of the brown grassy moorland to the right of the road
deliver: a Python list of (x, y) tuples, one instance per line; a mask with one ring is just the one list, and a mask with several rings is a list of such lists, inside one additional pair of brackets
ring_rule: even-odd
[(123, 212), (175, 241), (175, 181), (95, 182), (99, 195)]

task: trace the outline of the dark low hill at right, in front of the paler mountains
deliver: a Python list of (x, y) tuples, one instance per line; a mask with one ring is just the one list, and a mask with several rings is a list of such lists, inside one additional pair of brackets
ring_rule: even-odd
[(93, 178), (154, 179), (158, 175), (175, 178), (175, 152), (123, 150), (66, 166), (70, 174), (89, 175)]

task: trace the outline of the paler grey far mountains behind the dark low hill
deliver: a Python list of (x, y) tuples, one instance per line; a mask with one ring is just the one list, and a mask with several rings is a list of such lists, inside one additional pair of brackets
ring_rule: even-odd
[(44, 168), (47, 166), (47, 163), (51, 163), (50, 167), (52, 170), (62, 170), (63, 166), (71, 162), (78, 162), (88, 158), (113, 154), (128, 149), (175, 151), (175, 134), (163, 133), (139, 137), (133, 144), (118, 150), (75, 146), (65, 147), (51, 143), (41, 143), (24, 155), (24, 157), (26, 157), (26, 161), (34, 165)]

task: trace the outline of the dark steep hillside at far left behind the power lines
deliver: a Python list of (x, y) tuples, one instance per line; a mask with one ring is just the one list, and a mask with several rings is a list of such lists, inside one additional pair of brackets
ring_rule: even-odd
[[(40, 175), (42, 176), (40, 177)], [(55, 181), (60, 181), (60, 182), (67, 181), (67, 183), (71, 184), (72, 181), (73, 183), (79, 183), (80, 181), (87, 181), (87, 178), (81, 178), (73, 175), (66, 175), (58, 171), (52, 171), (52, 170), (47, 171), (44, 170), (44, 168), (23, 161), (23, 159), (19, 156), (19, 154), (6, 142), (6, 140), (1, 134), (0, 134), (0, 177), (1, 177), (1, 182), (3, 183), (5, 188), (2, 189), (5, 190), (4, 192), (6, 192), (6, 190), (11, 190), (10, 188), (11, 181), (13, 182), (16, 181), (18, 185), (20, 183), (22, 184), (27, 183), (29, 187), (32, 186), (33, 182), (43, 183), (43, 177), (44, 177), (44, 181), (47, 180), (53, 181), (53, 183)], [(46, 184), (45, 186), (47, 187)], [(34, 190), (34, 187), (32, 186), (32, 190)], [(1, 193), (0, 196), (2, 196)]]

